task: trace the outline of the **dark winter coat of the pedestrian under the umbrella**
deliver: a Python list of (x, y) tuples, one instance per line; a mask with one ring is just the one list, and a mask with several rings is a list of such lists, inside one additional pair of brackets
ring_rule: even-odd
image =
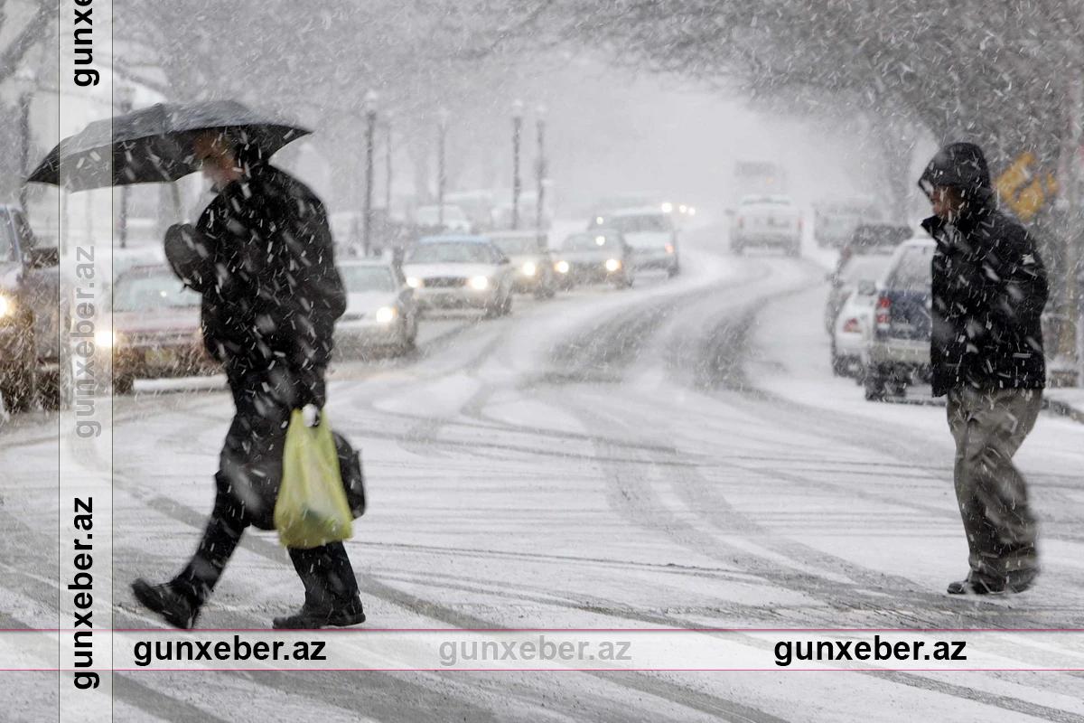
[(167, 234), (182, 281), (203, 296), (207, 350), (231, 385), (268, 384), (289, 408), (323, 406), (323, 373), (346, 294), (323, 204), (268, 164), (227, 185), (192, 227)]

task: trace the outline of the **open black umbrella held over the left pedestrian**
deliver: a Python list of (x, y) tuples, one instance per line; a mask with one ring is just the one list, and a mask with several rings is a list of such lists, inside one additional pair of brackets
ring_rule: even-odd
[(199, 170), (192, 139), (211, 129), (235, 130), (268, 156), (311, 132), (235, 101), (158, 103), (95, 120), (61, 141), (26, 180), (69, 191), (176, 181)]

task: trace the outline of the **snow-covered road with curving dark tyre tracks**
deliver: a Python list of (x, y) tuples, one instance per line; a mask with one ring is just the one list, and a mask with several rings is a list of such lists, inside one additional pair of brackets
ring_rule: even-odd
[[(374, 628), (1084, 628), (1084, 427), (1018, 461), (1042, 520), (1028, 593), (958, 599), (952, 441), (935, 404), (872, 404), (828, 367), (823, 270), (691, 234), (686, 272), (512, 317), (450, 317), (417, 358), (335, 369), (371, 511), (347, 543)], [(231, 415), (214, 387), (118, 399), (115, 628), (191, 554)], [(0, 628), (55, 625), (55, 417), (0, 431)], [(101, 450), (103, 457), (107, 450)], [(264, 628), (301, 589), (246, 537), (201, 625)], [(1054, 643), (1056, 645), (1056, 642)], [(1021, 667), (1028, 664), (1022, 653)], [(55, 673), (9, 710), (55, 711)], [(1073, 673), (143, 672), (131, 721), (1084, 721)]]

